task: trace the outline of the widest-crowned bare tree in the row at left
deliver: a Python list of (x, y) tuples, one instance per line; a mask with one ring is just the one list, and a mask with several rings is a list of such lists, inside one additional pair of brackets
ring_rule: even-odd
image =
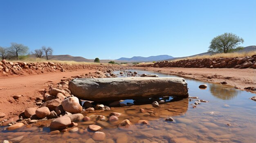
[(23, 44), (11, 43), (11, 46), (7, 49), (7, 52), (19, 59), (19, 55), (25, 55), (29, 47)]

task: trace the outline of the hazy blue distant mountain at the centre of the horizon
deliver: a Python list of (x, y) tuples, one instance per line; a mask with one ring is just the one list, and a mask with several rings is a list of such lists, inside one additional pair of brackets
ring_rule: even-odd
[(150, 56), (150, 57), (140, 57), (140, 56), (134, 56), (132, 58), (121, 57), (116, 60), (128, 61), (128, 62), (149, 62), (149, 61), (161, 61), (164, 59), (172, 59), (172, 58), (174, 58), (174, 57), (169, 56), (169, 55), (157, 55), (157, 56)]

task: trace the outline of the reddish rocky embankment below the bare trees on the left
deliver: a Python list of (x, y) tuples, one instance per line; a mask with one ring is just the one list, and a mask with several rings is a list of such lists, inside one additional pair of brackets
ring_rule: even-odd
[[(103, 72), (119, 69), (114, 64), (61, 64), (53, 62), (7, 62), (5, 59), (0, 62), (0, 77), (13, 77), (19, 75), (38, 75), (42, 73), (54, 73), (76, 70), (101, 70)], [(104, 74), (101, 73), (104, 76)], [(98, 77), (98, 76), (97, 76)]]

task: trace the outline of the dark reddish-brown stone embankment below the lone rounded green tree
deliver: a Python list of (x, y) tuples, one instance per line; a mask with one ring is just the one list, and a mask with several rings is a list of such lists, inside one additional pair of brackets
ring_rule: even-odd
[(252, 57), (231, 57), (216, 59), (184, 59), (175, 62), (161, 61), (154, 64), (140, 64), (139, 67), (177, 68), (256, 68), (256, 55)]

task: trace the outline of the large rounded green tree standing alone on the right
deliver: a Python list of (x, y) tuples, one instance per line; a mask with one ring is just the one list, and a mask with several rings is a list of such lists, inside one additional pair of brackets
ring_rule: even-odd
[(210, 53), (230, 53), (238, 50), (242, 50), (242, 46), (238, 46), (239, 44), (243, 44), (243, 38), (240, 38), (236, 34), (233, 33), (224, 33), (222, 35), (218, 35), (214, 37), (209, 46), (208, 52)]

